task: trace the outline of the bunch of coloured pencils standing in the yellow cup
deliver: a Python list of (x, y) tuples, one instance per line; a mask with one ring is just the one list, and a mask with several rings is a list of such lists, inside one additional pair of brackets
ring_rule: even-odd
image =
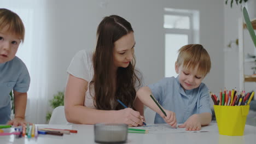
[(224, 88), (223, 92), (220, 90), (219, 98), (213, 92), (210, 92), (210, 95), (214, 105), (241, 106), (249, 105), (251, 103), (254, 92), (252, 91), (251, 93), (246, 94), (245, 91), (238, 92), (236, 88), (232, 89), (231, 91), (228, 91), (226, 88)]

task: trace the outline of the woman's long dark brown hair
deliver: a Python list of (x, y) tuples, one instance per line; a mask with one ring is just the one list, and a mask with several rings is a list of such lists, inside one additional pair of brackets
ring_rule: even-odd
[(141, 80), (135, 74), (135, 57), (133, 56), (127, 68), (119, 67), (117, 74), (112, 74), (114, 43), (130, 32), (133, 32), (131, 24), (117, 15), (104, 17), (98, 25), (97, 45), (92, 57), (94, 77), (89, 87), (94, 87), (94, 105), (98, 110), (124, 109), (117, 99), (133, 107), (136, 98), (135, 85), (141, 85)]

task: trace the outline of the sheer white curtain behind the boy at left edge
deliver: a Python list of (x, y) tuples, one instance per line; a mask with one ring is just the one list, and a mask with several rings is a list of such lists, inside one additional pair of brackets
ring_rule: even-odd
[(17, 1), (0, 1), (1, 8), (18, 14), (25, 25), (25, 41), (19, 46), (16, 56), (26, 64), (31, 77), (26, 109), (26, 120), (36, 124), (46, 122), (48, 110), (48, 60), (46, 57), (46, 19), (44, 1), (17, 4)]

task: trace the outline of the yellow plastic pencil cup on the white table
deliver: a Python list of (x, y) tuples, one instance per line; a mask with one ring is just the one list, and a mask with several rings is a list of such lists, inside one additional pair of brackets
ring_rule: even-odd
[(241, 136), (245, 130), (249, 105), (213, 105), (220, 135)]

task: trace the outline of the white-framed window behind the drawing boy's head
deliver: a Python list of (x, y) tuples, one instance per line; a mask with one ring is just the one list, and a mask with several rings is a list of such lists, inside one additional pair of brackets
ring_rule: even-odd
[(199, 43), (199, 11), (165, 8), (165, 77), (176, 77), (178, 50)]

